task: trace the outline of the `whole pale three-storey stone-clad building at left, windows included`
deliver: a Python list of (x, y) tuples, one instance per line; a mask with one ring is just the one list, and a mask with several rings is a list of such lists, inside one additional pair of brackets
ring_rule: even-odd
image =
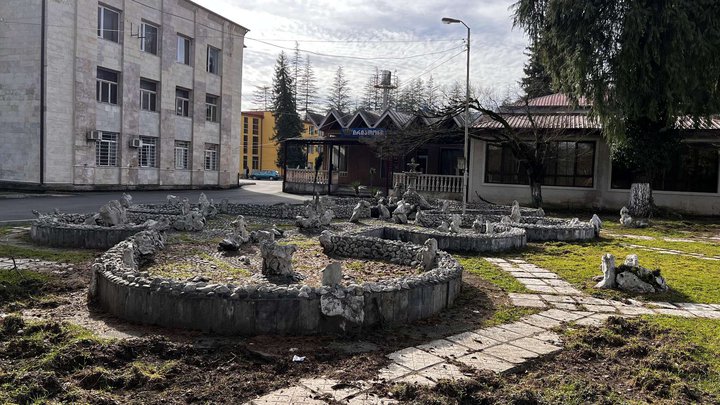
[(0, 187), (237, 186), (247, 31), (188, 0), (0, 1)]

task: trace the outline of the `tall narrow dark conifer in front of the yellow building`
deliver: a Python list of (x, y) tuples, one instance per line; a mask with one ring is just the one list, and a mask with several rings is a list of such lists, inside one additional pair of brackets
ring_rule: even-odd
[(293, 93), (293, 80), (290, 73), (290, 66), (285, 52), (280, 52), (275, 64), (275, 77), (273, 78), (273, 104), (272, 112), (275, 117), (275, 134), (273, 140), (277, 144), (277, 165), (294, 168), (305, 166), (305, 152), (303, 148), (293, 146), (287, 150), (287, 162), (285, 162), (285, 148), (287, 145), (282, 141), (290, 138), (297, 138), (303, 132), (303, 123), (297, 113), (295, 97)]

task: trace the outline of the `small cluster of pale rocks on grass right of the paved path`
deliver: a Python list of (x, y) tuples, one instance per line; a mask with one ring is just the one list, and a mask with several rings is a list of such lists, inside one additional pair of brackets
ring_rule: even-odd
[(654, 293), (668, 290), (660, 270), (649, 270), (640, 266), (637, 255), (628, 255), (625, 262), (615, 267), (615, 256), (605, 254), (600, 266), (603, 272), (595, 288), (615, 288), (634, 293)]

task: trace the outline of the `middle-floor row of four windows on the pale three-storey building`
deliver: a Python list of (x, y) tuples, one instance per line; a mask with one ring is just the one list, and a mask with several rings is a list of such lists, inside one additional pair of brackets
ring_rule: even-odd
[[(118, 104), (119, 74), (112, 70), (97, 68), (96, 99), (101, 103)], [(181, 117), (191, 116), (190, 103), (191, 90), (182, 87), (175, 89), (176, 114)], [(158, 82), (149, 79), (140, 79), (140, 109), (143, 111), (158, 111)], [(205, 120), (220, 122), (218, 109), (220, 97), (213, 94), (205, 95)]]

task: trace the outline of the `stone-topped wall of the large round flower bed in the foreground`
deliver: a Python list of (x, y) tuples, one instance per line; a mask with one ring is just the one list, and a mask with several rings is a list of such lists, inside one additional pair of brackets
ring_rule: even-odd
[[(343, 244), (355, 245), (361, 239), (380, 250), (405, 249), (399, 255), (403, 263), (418, 249), (375, 238), (329, 238), (329, 243), (338, 244), (335, 250), (330, 247), (335, 254), (343, 251)], [(152, 250), (149, 245), (161, 245), (157, 239), (154, 231), (141, 232), (103, 254), (93, 265), (91, 299), (107, 312), (133, 322), (226, 335), (302, 335), (347, 333), (425, 318), (452, 305), (462, 285), (462, 266), (445, 252), (438, 252), (437, 267), (430, 271), (346, 287), (236, 287), (149, 278), (138, 270), (138, 263), (152, 256), (147, 253)], [(328, 303), (342, 314), (326, 315)]]

